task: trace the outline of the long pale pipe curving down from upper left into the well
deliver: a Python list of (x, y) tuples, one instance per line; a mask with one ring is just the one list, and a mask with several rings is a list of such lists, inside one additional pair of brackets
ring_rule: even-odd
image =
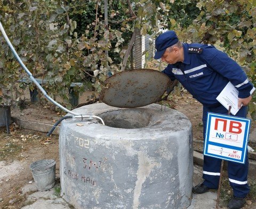
[[(55, 102), (50, 96), (47, 95), (46, 91), (43, 89), (43, 87), (36, 81), (36, 79), (33, 77), (33, 75), (30, 73), (30, 71), (27, 69), (27, 67), (25, 66), (25, 64), (21, 61), (21, 58), (19, 57), (19, 55), (17, 54), (17, 52), (15, 51), (14, 47), (11, 44), (11, 41), (9, 40), (9, 38), (7, 37), (5, 30), (2, 26), (2, 23), (0, 21), (0, 30), (7, 42), (7, 44), (9, 45), (9, 47), (11, 48), (11, 51), (13, 53), (13, 55), (17, 58), (18, 62), (20, 63), (20, 65), (22, 66), (22, 68), (26, 71), (26, 73), (28, 73), (29, 78), (35, 83), (35, 85), (42, 91), (43, 95), (50, 101), (52, 102), (54, 105), (60, 107), (63, 111), (70, 113), (72, 115), (81, 115), (75, 112), (72, 112), (70, 110), (68, 110), (67, 108), (63, 107), (62, 105), (60, 105), (59, 103)], [(93, 118), (97, 118), (100, 119), (102, 124), (105, 125), (105, 123), (103, 122), (103, 120), (101, 118), (99, 118), (98, 116), (94, 116), (91, 115)], [(83, 115), (83, 117), (87, 117), (86, 115)]]

